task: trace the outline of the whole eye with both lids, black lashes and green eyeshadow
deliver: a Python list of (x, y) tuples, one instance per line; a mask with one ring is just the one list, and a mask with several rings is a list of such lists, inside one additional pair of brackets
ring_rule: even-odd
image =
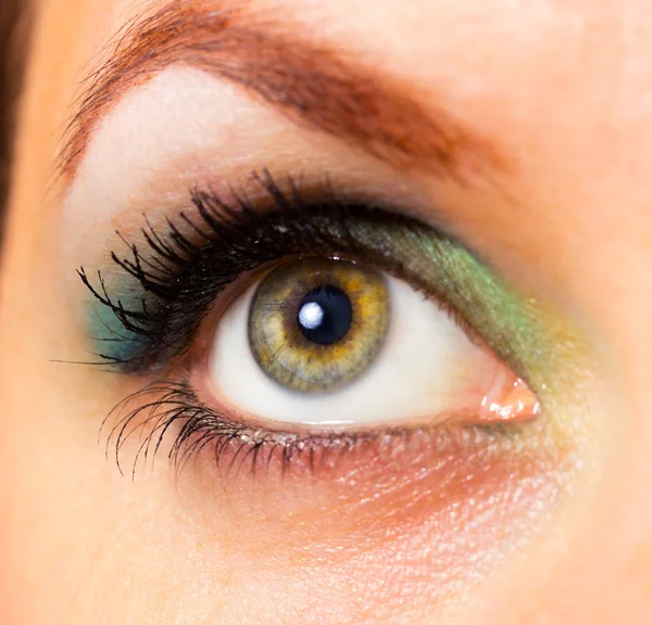
[(334, 181), (247, 182), (254, 199), (192, 189), (176, 217), (118, 231), (111, 278), (79, 270), (100, 362), (143, 380), (112, 414), (117, 449), (170, 435), (180, 464), (308, 479), (542, 431), (553, 350), (536, 301)]

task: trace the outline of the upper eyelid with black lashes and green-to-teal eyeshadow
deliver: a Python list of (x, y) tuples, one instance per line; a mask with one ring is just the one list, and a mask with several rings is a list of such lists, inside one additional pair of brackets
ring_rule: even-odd
[(227, 203), (193, 190), (196, 216), (185, 211), (162, 228), (146, 225), (139, 244), (123, 239), (123, 250), (111, 253), (111, 284), (102, 270), (80, 269), (93, 294), (88, 334), (103, 361), (130, 372), (161, 367), (185, 350), (229, 283), (302, 254), (349, 255), (405, 279), (479, 334), (537, 392), (548, 387), (543, 369), (559, 371), (563, 363), (560, 347), (578, 341), (440, 230), (393, 207), (349, 199), (325, 179), (301, 189), (292, 179), (281, 189), (266, 171), (251, 180), (263, 190), (255, 203), (243, 192)]

